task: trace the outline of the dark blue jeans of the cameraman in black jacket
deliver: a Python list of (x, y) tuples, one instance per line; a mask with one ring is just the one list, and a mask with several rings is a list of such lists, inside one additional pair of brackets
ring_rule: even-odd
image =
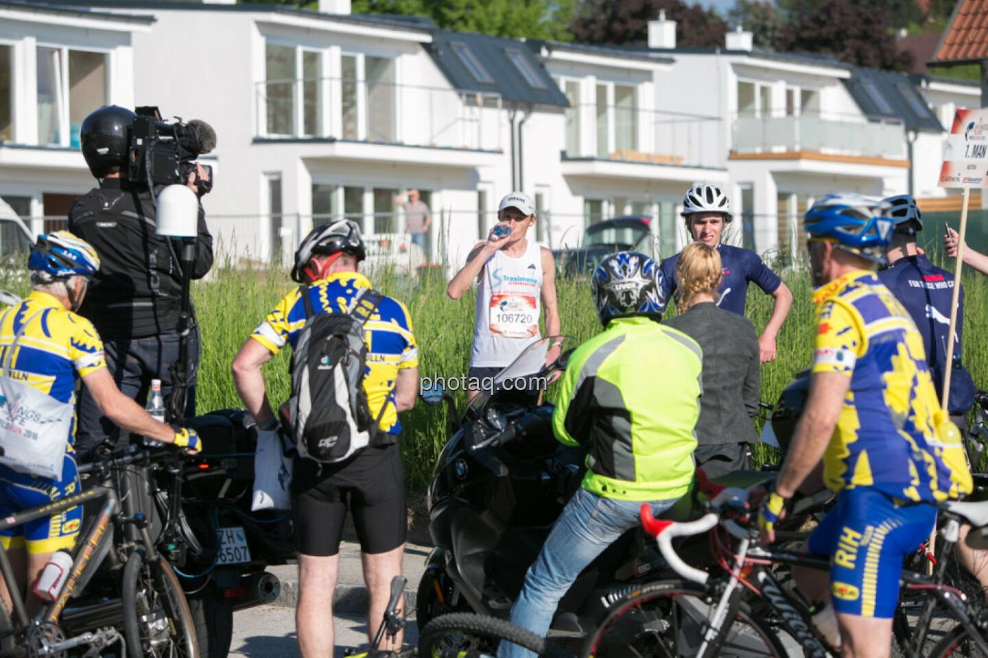
[[(179, 335), (176, 331), (141, 338), (111, 338), (104, 341), (107, 368), (117, 388), (141, 406), (147, 400), (152, 379), (161, 380), (161, 395), (168, 404), (172, 392), (171, 365), (179, 358)], [(189, 334), (189, 389), (186, 393), (185, 417), (196, 415), (196, 371), (199, 367), (199, 328)], [(76, 403), (75, 452), (80, 463), (88, 462), (91, 453), (104, 441), (126, 443), (126, 434), (100, 412), (93, 396), (83, 385)]]

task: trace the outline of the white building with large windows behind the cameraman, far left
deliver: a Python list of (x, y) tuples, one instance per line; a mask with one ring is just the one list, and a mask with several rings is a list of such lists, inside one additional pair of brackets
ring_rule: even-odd
[[(79, 152), (79, 124), (108, 104), (133, 107), (135, 35), (149, 16), (0, 1), (0, 199), (34, 233), (57, 228), (95, 183)], [(0, 222), (0, 253), (23, 241)]]

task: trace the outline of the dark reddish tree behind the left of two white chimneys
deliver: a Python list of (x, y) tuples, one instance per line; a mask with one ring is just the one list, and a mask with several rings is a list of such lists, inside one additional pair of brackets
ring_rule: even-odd
[(727, 25), (714, 9), (699, 4), (688, 7), (682, 0), (589, 0), (570, 27), (573, 38), (586, 43), (646, 43), (648, 22), (665, 10), (676, 21), (679, 46), (723, 46)]

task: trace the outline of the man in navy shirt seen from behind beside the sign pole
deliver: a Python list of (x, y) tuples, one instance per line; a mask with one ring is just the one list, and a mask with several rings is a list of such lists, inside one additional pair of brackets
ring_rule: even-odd
[[(944, 369), (947, 367), (947, 331), (950, 327), (950, 302), (953, 298), (953, 274), (932, 264), (916, 249), (916, 233), (923, 230), (923, 219), (916, 201), (909, 194), (890, 196), (883, 203), (895, 223), (892, 243), (885, 252), (888, 268), (878, 278), (902, 303), (923, 334), (923, 348), (930, 363), (930, 374), (937, 396), (944, 396)], [(957, 325), (953, 337), (953, 365), (947, 413), (963, 429), (967, 410), (974, 403), (971, 374), (960, 365), (960, 329), (964, 324), (964, 290), (957, 298)]]

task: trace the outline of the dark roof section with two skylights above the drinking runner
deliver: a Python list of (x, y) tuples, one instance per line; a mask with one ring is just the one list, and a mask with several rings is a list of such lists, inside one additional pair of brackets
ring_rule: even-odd
[(569, 107), (524, 41), (443, 30), (423, 47), (455, 89), (500, 94), (508, 103)]

